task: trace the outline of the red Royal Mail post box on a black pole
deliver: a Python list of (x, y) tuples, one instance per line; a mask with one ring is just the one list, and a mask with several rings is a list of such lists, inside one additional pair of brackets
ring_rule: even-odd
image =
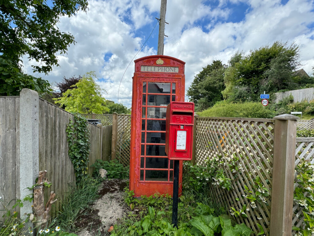
[(194, 103), (167, 106), (165, 152), (169, 160), (192, 160), (193, 125)]

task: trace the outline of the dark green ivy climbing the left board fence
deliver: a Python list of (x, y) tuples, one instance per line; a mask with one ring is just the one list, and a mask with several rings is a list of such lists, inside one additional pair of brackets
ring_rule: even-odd
[(89, 162), (89, 131), (86, 118), (74, 115), (74, 122), (70, 120), (66, 132), (68, 136), (69, 158), (73, 163), (77, 181), (87, 176)]

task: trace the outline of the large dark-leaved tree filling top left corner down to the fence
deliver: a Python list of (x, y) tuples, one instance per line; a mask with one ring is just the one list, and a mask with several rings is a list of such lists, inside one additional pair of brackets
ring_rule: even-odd
[(74, 37), (57, 26), (61, 16), (86, 12), (87, 0), (0, 0), (0, 94), (19, 95), (22, 88), (50, 91), (42, 78), (23, 73), (21, 58), (36, 61), (33, 71), (48, 73), (58, 66), (57, 52), (66, 53)]

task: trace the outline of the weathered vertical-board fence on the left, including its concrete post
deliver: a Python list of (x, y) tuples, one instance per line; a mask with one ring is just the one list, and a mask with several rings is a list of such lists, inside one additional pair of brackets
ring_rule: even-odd
[[(47, 177), (52, 183), (45, 197), (48, 196), (48, 192), (54, 191), (57, 198), (62, 199), (68, 191), (68, 185), (75, 182), (73, 164), (68, 157), (66, 134), (66, 127), (69, 121), (73, 120), (73, 115), (38, 98), (34, 91), (29, 89), (24, 91), (26, 91), (26, 96), (23, 95), (24, 104), (27, 103), (34, 108), (29, 117), (20, 114), (21, 108), (24, 111), (28, 109), (20, 105), (22, 95), (0, 97), (0, 197), (1, 201), (13, 200), (11, 205), (15, 203), (14, 199), (23, 199), (30, 194), (27, 189), (27, 193), (24, 193), (24, 188), (35, 184), (35, 178), (41, 170), (47, 170)], [(30, 121), (26, 124), (28, 127), (20, 125), (25, 120)], [(36, 127), (36, 123), (37, 129), (33, 128)], [(89, 174), (91, 174), (93, 168), (90, 166), (96, 159), (111, 158), (112, 125), (100, 128), (87, 123), (87, 126), (90, 133)], [(32, 140), (20, 139), (22, 134), (28, 135), (29, 131)], [(30, 141), (31, 147), (28, 144), (25, 147), (25, 141)], [(27, 148), (27, 152), (22, 151), (24, 148)], [(25, 155), (29, 161), (27, 163), (24, 163), (25, 157), (22, 158)], [(20, 180), (21, 184), (22, 180), (25, 182), (22, 184), (23, 189), (20, 187)], [(27, 204), (24, 204), (23, 211), (31, 212), (31, 204), (29, 207), (25, 205)], [(58, 211), (60, 207), (58, 201), (55, 206), (55, 211)], [(3, 210), (1, 204), (0, 210)]]

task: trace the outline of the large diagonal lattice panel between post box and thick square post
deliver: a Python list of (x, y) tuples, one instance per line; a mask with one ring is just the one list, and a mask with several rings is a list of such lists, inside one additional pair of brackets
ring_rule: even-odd
[(205, 165), (208, 158), (220, 163), (219, 168), (231, 180), (232, 189), (228, 192), (212, 185), (217, 200), (227, 204), (229, 210), (234, 207), (240, 211), (246, 205), (247, 218), (240, 214), (236, 219), (256, 234), (260, 232), (257, 223), (269, 232), (271, 191), (267, 198), (254, 203), (246, 196), (248, 191), (263, 191), (255, 182), (258, 178), (264, 188), (271, 189), (273, 127), (272, 119), (197, 117), (196, 163)]

